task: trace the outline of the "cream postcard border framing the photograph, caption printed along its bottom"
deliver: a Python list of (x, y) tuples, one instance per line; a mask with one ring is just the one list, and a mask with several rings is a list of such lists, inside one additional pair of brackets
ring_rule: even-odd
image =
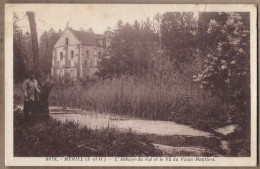
[[(87, 4), (84, 4), (87, 5)], [(37, 9), (57, 8), (68, 4), (6, 4), (5, 6), (5, 163), (8, 166), (256, 166), (257, 153), (257, 10), (255, 5), (191, 5), (191, 4), (91, 4), (102, 8), (121, 8), (128, 5), (145, 7), (150, 10), (166, 8), (172, 12), (250, 12), (250, 71), (251, 71), (251, 157), (214, 157), (215, 161), (115, 161), (115, 157), (103, 157), (104, 161), (46, 161), (46, 157), (14, 157), (13, 156), (13, 12), (37, 11)], [(69, 4), (71, 8), (79, 8), (82, 4)], [(83, 157), (84, 159), (85, 157)], [(132, 157), (130, 157), (132, 158)], [(138, 158), (138, 157), (136, 157)], [(158, 157), (159, 159), (161, 157)], [(173, 157), (172, 157), (173, 158)], [(191, 157), (196, 159), (196, 157)], [(143, 157), (145, 159), (145, 157)]]

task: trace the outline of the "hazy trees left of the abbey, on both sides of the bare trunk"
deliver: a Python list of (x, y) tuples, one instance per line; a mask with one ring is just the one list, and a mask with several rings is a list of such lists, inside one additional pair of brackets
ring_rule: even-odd
[[(13, 21), (13, 43), (14, 43), (14, 81), (15, 83), (23, 81), (29, 71), (33, 68), (33, 50), (31, 33), (24, 31), (19, 25), (19, 21), (24, 18), (19, 18), (14, 13)], [(54, 44), (60, 36), (61, 31), (55, 32), (52, 28), (49, 31), (43, 32), (39, 40), (39, 72), (37, 77), (44, 78), (46, 74), (50, 74), (52, 65), (52, 52)], [(38, 68), (37, 68), (38, 69)]]

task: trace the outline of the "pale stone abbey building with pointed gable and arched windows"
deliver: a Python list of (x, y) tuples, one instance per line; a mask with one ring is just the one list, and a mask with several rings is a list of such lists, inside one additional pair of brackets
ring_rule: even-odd
[(108, 33), (100, 35), (67, 27), (54, 45), (52, 76), (93, 76), (98, 71), (98, 62), (103, 57), (108, 57), (109, 45)]

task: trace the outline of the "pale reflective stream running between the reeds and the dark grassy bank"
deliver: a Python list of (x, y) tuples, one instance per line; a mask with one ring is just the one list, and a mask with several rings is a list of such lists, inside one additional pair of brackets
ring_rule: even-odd
[(81, 109), (50, 107), (50, 115), (59, 121), (73, 121), (90, 129), (115, 128), (144, 135), (169, 156), (224, 156), (227, 142), (213, 134), (172, 121), (143, 120)]

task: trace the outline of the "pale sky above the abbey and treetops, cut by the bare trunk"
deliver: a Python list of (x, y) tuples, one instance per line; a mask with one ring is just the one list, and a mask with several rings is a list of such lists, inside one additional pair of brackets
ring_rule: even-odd
[[(155, 10), (156, 9), (156, 10)], [(104, 33), (110, 27), (115, 28), (119, 19), (123, 23), (134, 23), (135, 20), (143, 21), (147, 17), (153, 19), (157, 13), (171, 11), (165, 7), (152, 8), (144, 5), (89, 5), (80, 6), (57, 5), (39, 7), (34, 10), (38, 36), (44, 31), (53, 28), (55, 31), (69, 27), (80, 30), (81, 28), (92, 28), (95, 33)], [(26, 11), (16, 11), (20, 20), (18, 26), (23, 31), (30, 31), (29, 22), (26, 18)]]

